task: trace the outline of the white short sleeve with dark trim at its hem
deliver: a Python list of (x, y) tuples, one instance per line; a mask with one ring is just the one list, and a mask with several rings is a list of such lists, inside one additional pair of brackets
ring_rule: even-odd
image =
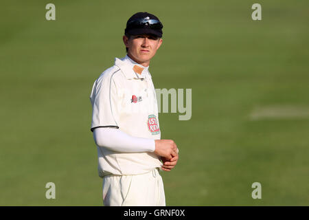
[(115, 127), (117, 125), (117, 88), (113, 74), (103, 74), (93, 84), (90, 95), (92, 104), (91, 131), (98, 127)]

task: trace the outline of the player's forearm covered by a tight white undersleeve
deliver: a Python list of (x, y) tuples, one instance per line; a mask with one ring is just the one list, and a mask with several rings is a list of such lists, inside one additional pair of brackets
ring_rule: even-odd
[(123, 153), (153, 152), (155, 140), (143, 137), (133, 137), (127, 133), (113, 128), (96, 128), (93, 131), (95, 144), (112, 151)]

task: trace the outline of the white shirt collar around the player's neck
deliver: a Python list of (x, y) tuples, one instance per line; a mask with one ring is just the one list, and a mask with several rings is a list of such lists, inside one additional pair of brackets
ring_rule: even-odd
[[(122, 70), (122, 72), (124, 73), (124, 75), (128, 79), (130, 79), (130, 78), (146, 78), (146, 76), (149, 76), (151, 78), (151, 76), (148, 72), (149, 66), (144, 67), (144, 66), (140, 65), (139, 63), (136, 63), (130, 57), (128, 57), (128, 55), (126, 55), (124, 58), (120, 58), (120, 59), (115, 58), (115, 65)], [(137, 68), (138, 67), (143, 68), (143, 71), (141, 72), (141, 74), (137, 74), (133, 70), (133, 67), (135, 65), (137, 65)]]

